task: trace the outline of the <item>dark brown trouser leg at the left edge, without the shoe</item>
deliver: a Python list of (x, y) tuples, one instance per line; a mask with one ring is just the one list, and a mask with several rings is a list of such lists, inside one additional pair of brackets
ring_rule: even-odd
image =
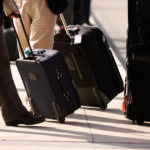
[(14, 85), (3, 29), (0, 26), (0, 106), (5, 122), (17, 119), (27, 112)]

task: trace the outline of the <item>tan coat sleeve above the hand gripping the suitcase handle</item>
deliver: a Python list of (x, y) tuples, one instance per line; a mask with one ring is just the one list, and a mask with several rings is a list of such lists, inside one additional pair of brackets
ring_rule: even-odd
[(8, 16), (12, 12), (18, 10), (17, 6), (15, 5), (14, 0), (4, 0), (3, 1), (3, 10), (5, 12), (5, 15)]

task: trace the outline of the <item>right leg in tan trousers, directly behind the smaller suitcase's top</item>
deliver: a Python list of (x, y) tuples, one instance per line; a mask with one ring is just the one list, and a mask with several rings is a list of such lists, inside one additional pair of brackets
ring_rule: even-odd
[(34, 49), (52, 49), (56, 15), (52, 13), (46, 0), (32, 1), (31, 18), (31, 46)]

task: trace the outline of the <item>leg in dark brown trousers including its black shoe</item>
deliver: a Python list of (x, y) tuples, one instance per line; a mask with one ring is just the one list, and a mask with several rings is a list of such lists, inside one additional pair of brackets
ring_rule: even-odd
[(10, 71), (10, 63), (0, 17), (0, 107), (6, 126), (33, 125), (45, 121), (43, 116), (33, 116), (22, 105)]

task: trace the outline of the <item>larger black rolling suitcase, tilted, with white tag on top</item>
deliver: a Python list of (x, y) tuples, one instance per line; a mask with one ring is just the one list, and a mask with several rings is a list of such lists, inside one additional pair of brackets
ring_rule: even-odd
[[(81, 104), (105, 110), (107, 104), (124, 90), (107, 40), (96, 27), (67, 27), (62, 15), (61, 19), (67, 35), (56, 34), (53, 49), (63, 54), (69, 73), (75, 80)], [(81, 42), (74, 44), (76, 39)]]

